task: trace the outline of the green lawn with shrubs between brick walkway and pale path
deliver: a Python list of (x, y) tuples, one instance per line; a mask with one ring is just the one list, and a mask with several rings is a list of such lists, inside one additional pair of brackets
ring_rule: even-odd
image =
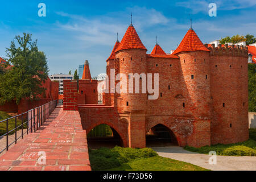
[(100, 148), (89, 150), (90, 164), (96, 171), (204, 171), (193, 164), (159, 156), (151, 148)]

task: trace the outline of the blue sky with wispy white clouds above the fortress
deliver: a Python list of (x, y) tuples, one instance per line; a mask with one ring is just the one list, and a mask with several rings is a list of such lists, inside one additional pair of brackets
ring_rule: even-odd
[[(46, 4), (46, 17), (38, 16), (38, 4)], [(209, 3), (217, 16), (208, 15)], [(256, 36), (256, 1), (81, 1), (13, 0), (1, 2), (0, 56), (15, 35), (31, 33), (46, 53), (49, 74), (72, 73), (87, 59), (92, 76), (105, 72), (106, 62), (119, 40), (133, 25), (148, 53), (155, 37), (166, 52), (175, 49), (192, 26), (203, 43), (234, 34)]]

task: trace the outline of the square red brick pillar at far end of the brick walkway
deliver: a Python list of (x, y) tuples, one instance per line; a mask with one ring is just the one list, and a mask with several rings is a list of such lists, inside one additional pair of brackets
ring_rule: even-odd
[(63, 81), (63, 110), (78, 110), (77, 108), (77, 81)]

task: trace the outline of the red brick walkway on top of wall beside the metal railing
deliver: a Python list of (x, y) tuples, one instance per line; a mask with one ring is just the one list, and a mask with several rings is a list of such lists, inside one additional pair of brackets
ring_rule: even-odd
[[(45, 152), (46, 160), (40, 152)], [(0, 156), (0, 171), (3, 170), (91, 170), (79, 112), (56, 108), (36, 133), (26, 135)]]

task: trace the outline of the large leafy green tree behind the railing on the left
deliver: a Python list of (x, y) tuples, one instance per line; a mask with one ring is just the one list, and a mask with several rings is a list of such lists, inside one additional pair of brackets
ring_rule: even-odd
[(48, 78), (47, 58), (36, 44), (31, 34), (23, 33), (6, 48), (7, 63), (13, 67), (0, 75), (0, 104), (11, 100), (19, 104), (22, 98), (36, 99), (45, 91), (42, 81)]

